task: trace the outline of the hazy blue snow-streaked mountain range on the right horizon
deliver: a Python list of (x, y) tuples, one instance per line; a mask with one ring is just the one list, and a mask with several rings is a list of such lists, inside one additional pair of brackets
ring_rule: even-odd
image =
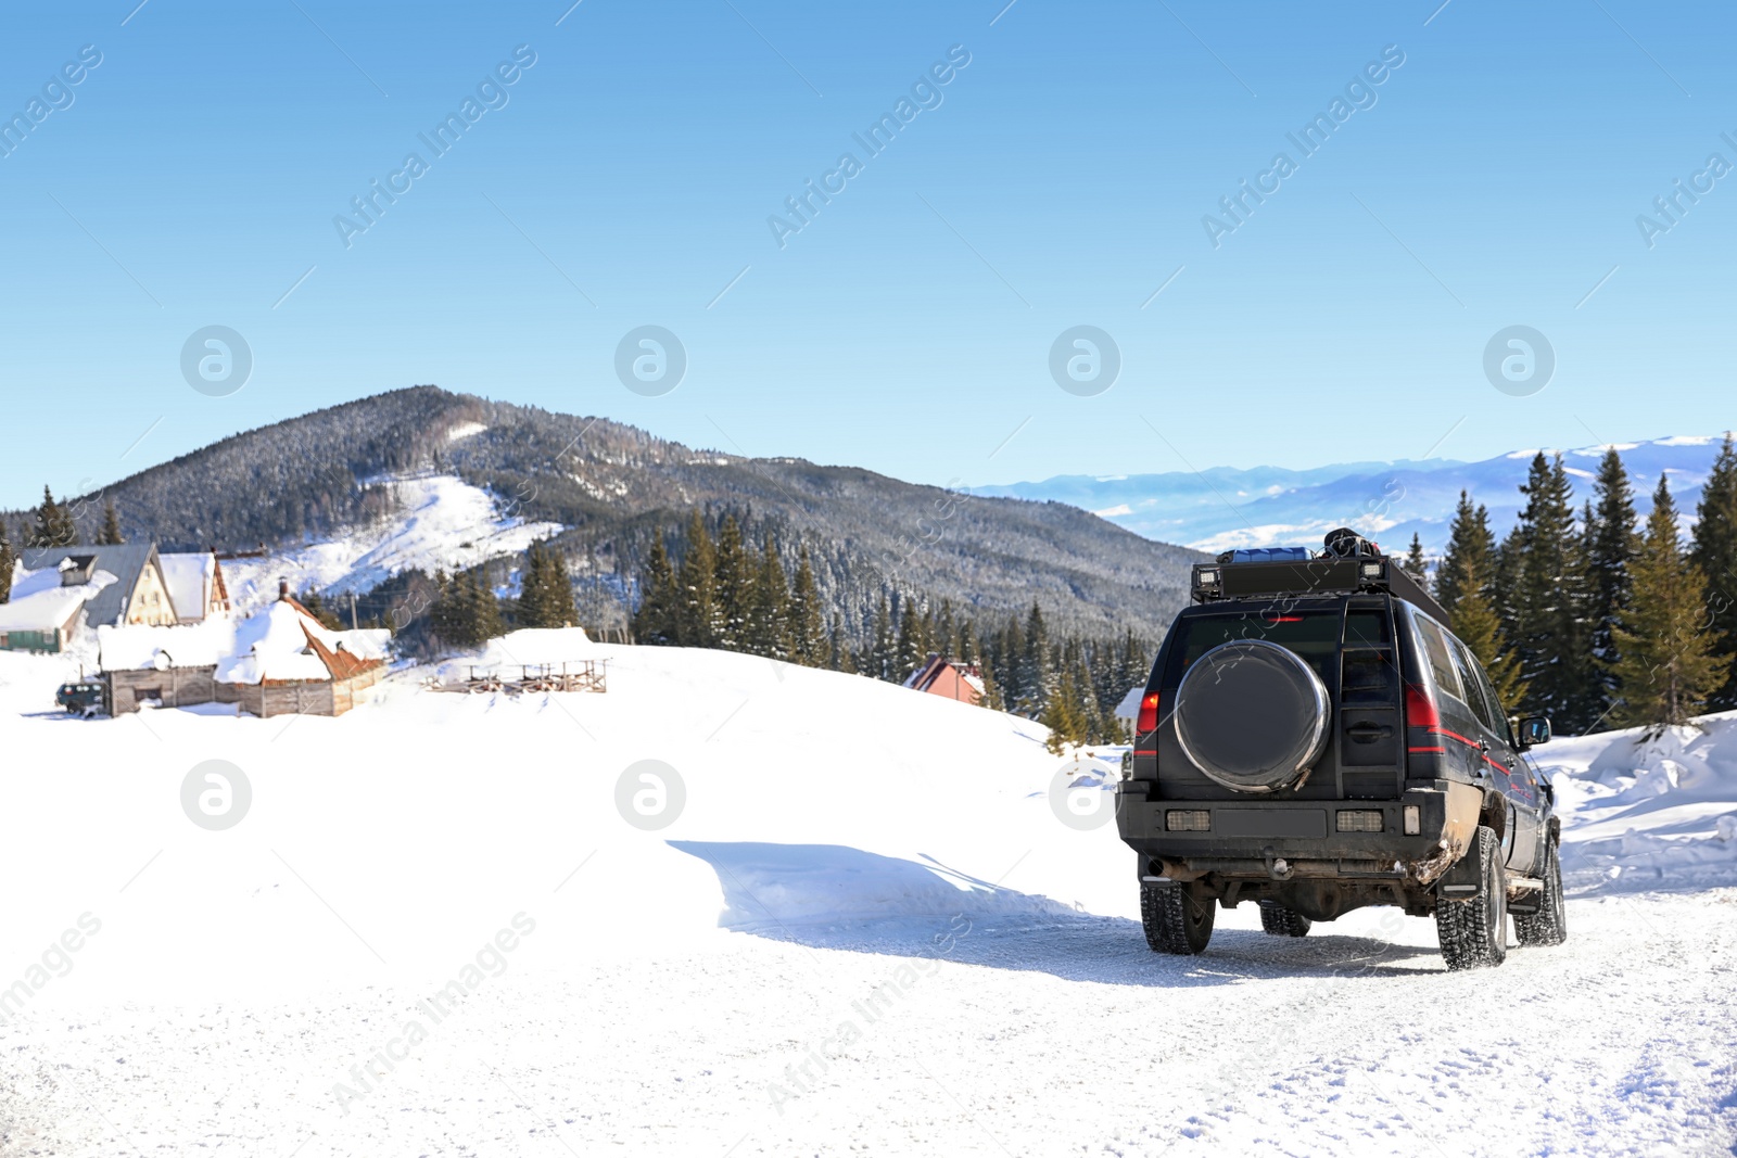
[[(1617, 443), (1628, 465), (1636, 509), (1652, 509), (1659, 474), (1694, 519), (1701, 484), (1718, 455), (1723, 434)], [(1593, 477), (1605, 446), (1562, 451), (1575, 484), (1575, 503), (1593, 493)], [(1555, 451), (1546, 451), (1555, 453)], [(1186, 543), (1218, 552), (1230, 547), (1320, 545), (1320, 536), (1351, 526), (1398, 552), (1412, 533), (1424, 550), (1440, 554), (1459, 491), (1490, 509), (1497, 533), (1513, 526), (1523, 505), (1520, 484), (1537, 450), (1516, 450), (1483, 462), (1348, 462), (1310, 470), (1252, 467), (1238, 470), (1176, 470), (1166, 474), (1065, 474), (1042, 483), (980, 486), (974, 495), (1073, 503), (1146, 538)]]

